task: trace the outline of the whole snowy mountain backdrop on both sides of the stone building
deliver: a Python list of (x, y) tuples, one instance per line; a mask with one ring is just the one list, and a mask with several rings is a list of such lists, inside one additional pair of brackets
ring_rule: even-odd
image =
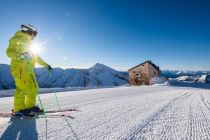
[[(40, 88), (97, 88), (128, 85), (128, 72), (120, 72), (100, 63), (88, 69), (54, 68), (52, 73), (49, 73), (46, 68), (36, 68), (35, 73)], [(155, 85), (169, 85), (174, 81), (176, 83), (210, 83), (209, 75), (209, 71), (163, 70), (161, 77), (169, 80), (164, 83), (156, 81)], [(15, 84), (9, 66), (0, 64), (0, 90), (14, 88)]]

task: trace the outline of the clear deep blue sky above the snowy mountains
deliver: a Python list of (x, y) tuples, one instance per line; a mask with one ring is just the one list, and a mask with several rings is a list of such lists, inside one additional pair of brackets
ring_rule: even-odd
[(210, 1), (1, 0), (0, 63), (22, 23), (38, 28), (40, 56), (53, 67), (103, 63), (127, 70), (210, 70)]

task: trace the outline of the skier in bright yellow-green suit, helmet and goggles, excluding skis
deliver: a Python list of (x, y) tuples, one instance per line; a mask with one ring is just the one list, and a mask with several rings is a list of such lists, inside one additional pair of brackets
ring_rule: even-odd
[(36, 37), (37, 30), (30, 24), (21, 25), (9, 40), (7, 55), (11, 58), (10, 70), (13, 75), (16, 91), (14, 94), (14, 116), (34, 116), (43, 110), (36, 106), (38, 83), (34, 73), (35, 63), (52, 71), (52, 67), (38, 55), (30, 51), (31, 41)]

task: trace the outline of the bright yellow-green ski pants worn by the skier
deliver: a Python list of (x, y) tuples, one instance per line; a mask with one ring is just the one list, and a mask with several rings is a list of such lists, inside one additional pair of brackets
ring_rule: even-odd
[(33, 69), (27, 66), (11, 67), (11, 72), (16, 85), (14, 112), (35, 106), (39, 87)]

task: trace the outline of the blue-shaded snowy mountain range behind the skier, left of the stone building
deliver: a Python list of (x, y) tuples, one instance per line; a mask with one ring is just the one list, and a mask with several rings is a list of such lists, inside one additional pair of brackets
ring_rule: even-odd
[[(50, 87), (103, 87), (120, 86), (128, 83), (125, 72), (116, 71), (103, 64), (95, 64), (89, 69), (54, 68), (49, 73), (45, 68), (35, 69), (41, 88)], [(14, 80), (8, 65), (0, 65), (0, 89), (14, 88)]]

